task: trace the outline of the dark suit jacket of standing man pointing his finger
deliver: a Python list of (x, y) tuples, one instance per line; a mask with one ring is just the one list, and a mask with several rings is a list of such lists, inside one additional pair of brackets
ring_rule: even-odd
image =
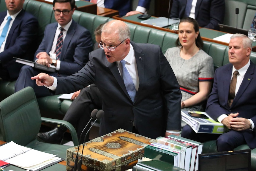
[(90, 61), (79, 72), (58, 77), (56, 94), (74, 92), (95, 83), (102, 95), (105, 112), (100, 135), (119, 128), (132, 131), (133, 122), (141, 135), (151, 138), (164, 136), (166, 129), (181, 130), (181, 92), (161, 48), (152, 44), (131, 44), (140, 81), (134, 102), (127, 93), (116, 62), (108, 62), (103, 49), (92, 51)]

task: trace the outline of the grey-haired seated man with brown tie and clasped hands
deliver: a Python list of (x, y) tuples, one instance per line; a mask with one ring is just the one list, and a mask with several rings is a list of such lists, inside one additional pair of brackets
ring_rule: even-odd
[(244, 34), (234, 34), (229, 43), (230, 64), (218, 68), (214, 76), (206, 113), (223, 123), (224, 134), (196, 134), (186, 125), (181, 137), (199, 142), (217, 139), (218, 151), (229, 151), (242, 144), (256, 148), (256, 66), (250, 61), (252, 42)]

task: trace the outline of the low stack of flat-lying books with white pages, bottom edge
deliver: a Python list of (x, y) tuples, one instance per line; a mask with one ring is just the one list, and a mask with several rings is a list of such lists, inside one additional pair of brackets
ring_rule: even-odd
[(185, 171), (180, 167), (173, 166), (170, 163), (160, 160), (140, 161), (133, 166), (132, 171)]

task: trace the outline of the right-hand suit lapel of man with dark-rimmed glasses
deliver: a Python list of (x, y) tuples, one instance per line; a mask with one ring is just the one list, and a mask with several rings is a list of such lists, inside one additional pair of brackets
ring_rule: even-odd
[(73, 35), (75, 34), (76, 25), (77, 25), (77, 24), (75, 23), (75, 21), (72, 20), (72, 23), (71, 23), (71, 25), (70, 25), (70, 27), (69, 27), (69, 29), (68, 29), (68, 31), (67, 31), (67, 35), (66, 35), (66, 37), (65, 37), (65, 39), (64, 39), (63, 46), (62, 46), (62, 48), (61, 48), (61, 57), (60, 57), (60, 60), (64, 60), (64, 57), (65, 57), (65, 54), (66, 54), (66, 52), (67, 52), (67, 48), (68, 48), (68, 46), (69, 46), (69, 43), (70, 43), (70, 41), (71, 41)]

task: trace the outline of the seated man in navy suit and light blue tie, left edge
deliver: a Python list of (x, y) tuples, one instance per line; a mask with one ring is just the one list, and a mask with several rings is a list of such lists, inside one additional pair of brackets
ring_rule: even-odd
[(37, 49), (38, 21), (23, 10), (24, 1), (5, 0), (7, 11), (0, 12), (0, 77), (4, 80), (17, 79), (23, 66), (13, 57), (32, 60)]

